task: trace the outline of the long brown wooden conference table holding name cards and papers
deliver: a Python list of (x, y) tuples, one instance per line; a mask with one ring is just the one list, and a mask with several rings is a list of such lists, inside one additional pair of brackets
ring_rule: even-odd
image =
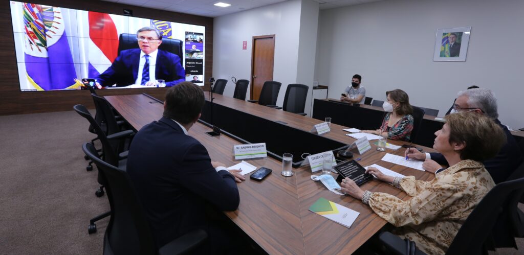
[[(162, 103), (148, 95), (118, 95), (105, 96), (105, 98), (135, 130), (139, 130), (162, 116)], [(212, 103), (209, 102), (208, 93), (206, 93), (206, 98), (208, 99), (206, 99), (202, 119), (211, 120), (211, 122), (215, 119), (215, 125), (220, 123), (216, 119), (226, 118), (226, 114), (233, 114), (236, 117), (254, 116), (249, 117), (250, 121), (258, 121), (260, 126), (281, 125), (282, 130), (286, 132), (296, 130), (297, 136), (300, 137), (318, 136), (318, 139), (325, 139), (326, 142), (340, 142), (345, 145), (350, 145), (355, 141), (354, 138), (346, 136), (347, 132), (342, 130), (347, 128), (345, 126), (331, 124), (331, 131), (319, 136), (311, 134), (310, 130), (313, 125), (322, 123), (321, 120), (222, 95), (215, 94)], [(211, 106), (213, 108), (210, 108)], [(210, 111), (213, 112), (214, 117), (210, 116)], [(224, 114), (221, 116), (220, 112)], [(237, 118), (234, 125), (229, 125), (224, 129), (225, 131), (233, 130), (242, 125), (243, 119)], [(227, 166), (237, 164), (239, 160), (233, 157), (233, 146), (242, 144), (242, 142), (236, 139), (237, 137), (234, 136), (236, 134), (211, 137), (206, 134), (208, 131), (212, 131), (209, 123), (197, 122), (191, 127), (188, 134), (199, 140), (208, 149), (213, 161), (220, 161)], [(250, 135), (249, 130), (245, 133), (241, 135)], [(267, 130), (265, 136), (268, 137), (268, 134), (272, 134), (271, 130)], [(388, 142), (395, 145), (406, 143)], [(282, 140), (281, 143), (284, 146), (286, 141)], [(403, 155), (404, 149), (386, 149), (385, 152), (380, 152), (376, 150), (373, 141), (370, 143), (371, 150), (363, 155), (355, 153), (353, 157), (353, 159), (359, 159), (358, 163), (364, 167), (376, 163), (406, 176), (413, 175), (419, 180), (434, 178), (431, 173), (380, 160), (386, 153)], [(268, 146), (269, 149), (271, 148)], [(422, 147), (422, 149), (434, 151), (427, 147)], [(280, 174), (281, 161), (274, 157), (248, 160), (248, 162), (257, 168), (272, 169), (273, 172), (260, 182), (250, 180), (246, 176), (244, 182), (238, 183), (241, 201), (238, 209), (234, 212), (225, 212), (225, 214), (269, 254), (353, 253), (387, 223), (359, 199), (348, 195), (337, 195), (327, 190), (321, 182), (312, 181), (310, 176), (313, 173), (309, 166), (293, 168), (294, 174), (285, 177)], [(314, 174), (319, 174), (319, 172)], [(405, 192), (378, 180), (369, 181), (361, 187), (363, 190), (385, 192), (400, 199), (409, 199)], [(347, 228), (310, 212), (308, 208), (321, 197), (358, 212), (359, 216), (353, 225)]]

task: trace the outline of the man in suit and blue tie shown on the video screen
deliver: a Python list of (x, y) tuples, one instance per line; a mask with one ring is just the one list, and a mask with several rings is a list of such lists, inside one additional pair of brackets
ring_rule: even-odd
[(96, 77), (97, 86), (155, 86), (156, 80), (165, 80), (166, 87), (171, 87), (185, 80), (180, 58), (158, 49), (162, 44), (162, 35), (158, 30), (140, 28), (136, 36), (140, 49), (121, 51), (113, 64)]

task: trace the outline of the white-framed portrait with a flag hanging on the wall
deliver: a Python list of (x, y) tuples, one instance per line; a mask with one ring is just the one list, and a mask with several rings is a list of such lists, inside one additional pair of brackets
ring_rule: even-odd
[(466, 61), (471, 27), (436, 30), (433, 61)]

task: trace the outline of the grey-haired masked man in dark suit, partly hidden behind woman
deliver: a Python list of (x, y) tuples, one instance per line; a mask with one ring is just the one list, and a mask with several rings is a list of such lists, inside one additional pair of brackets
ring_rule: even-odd
[[(495, 183), (506, 181), (509, 175), (511, 175), (522, 162), (522, 153), (506, 125), (501, 124), (498, 120), (497, 98), (495, 98), (493, 92), (487, 88), (472, 88), (463, 91), (459, 94), (459, 97), (456, 98), (451, 114), (465, 111), (486, 115), (494, 119), (504, 130), (506, 134), (505, 145), (500, 149), (495, 158), (488, 159), (482, 163)], [(485, 134), (485, 136), (489, 136), (489, 134)], [(406, 150), (405, 156), (424, 161), (422, 167), (425, 171), (431, 173), (439, 173), (443, 170), (441, 165), (448, 165), (440, 153), (422, 153), (414, 148), (410, 148)]]

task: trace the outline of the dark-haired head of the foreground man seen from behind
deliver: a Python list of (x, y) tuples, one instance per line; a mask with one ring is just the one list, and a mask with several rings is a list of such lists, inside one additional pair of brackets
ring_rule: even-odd
[(191, 123), (204, 107), (204, 91), (192, 82), (181, 82), (166, 92), (165, 118), (176, 120), (182, 125)]

